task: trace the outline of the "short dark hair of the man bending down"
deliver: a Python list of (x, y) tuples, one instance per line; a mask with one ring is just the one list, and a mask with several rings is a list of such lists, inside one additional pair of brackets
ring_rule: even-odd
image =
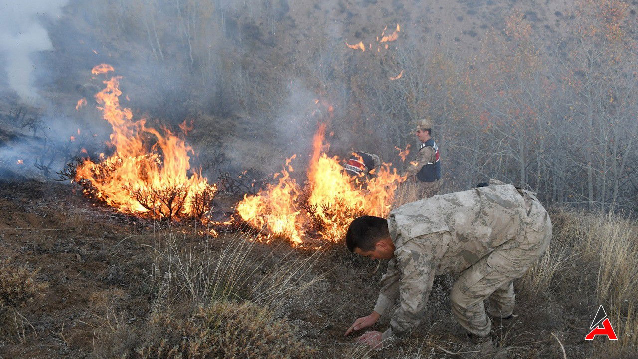
[(373, 216), (359, 217), (348, 227), (346, 246), (350, 252), (354, 252), (355, 248), (370, 252), (375, 250), (376, 242), (389, 235), (387, 219)]

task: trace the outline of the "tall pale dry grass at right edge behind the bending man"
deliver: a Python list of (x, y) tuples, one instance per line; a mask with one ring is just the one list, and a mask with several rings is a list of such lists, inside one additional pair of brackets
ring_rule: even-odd
[(613, 213), (560, 211), (551, 217), (552, 243), (523, 277), (528, 291), (560, 293), (577, 285), (582, 294), (563, 294), (593, 296), (616, 329), (615, 345), (638, 345), (638, 224)]

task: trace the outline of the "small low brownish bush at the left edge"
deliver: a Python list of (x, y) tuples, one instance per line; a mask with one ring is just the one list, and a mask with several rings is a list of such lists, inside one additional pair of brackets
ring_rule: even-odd
[(38, 270), (26, 265), (15, 266), (9, 261), (0, 263), (0, 314), (11, 308), (22, 307), (41, 296), (46, 283), (36, 280)]

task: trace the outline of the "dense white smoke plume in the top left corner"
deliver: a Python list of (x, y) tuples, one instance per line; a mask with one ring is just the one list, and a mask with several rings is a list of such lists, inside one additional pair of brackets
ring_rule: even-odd
[(55, 19), (66, 3), (68, 0), (0, 0), (0, 55), (9, 86), (25, 102), (39, 100), (32, 88), (36, 64), (31, 56), (53, 49), (41, 19)]

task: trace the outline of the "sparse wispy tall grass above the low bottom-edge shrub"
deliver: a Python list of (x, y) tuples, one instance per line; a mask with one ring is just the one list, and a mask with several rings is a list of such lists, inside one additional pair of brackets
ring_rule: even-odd
[(184, 300), (206, 305), (226, 298), (269, 305), (323, 280), (311, 273), (319, 252), (306, 256), (285, 243), (263, 248), (244, 234), (198, 243), (187, 243), (181, 234), (168, 229), (153, 247), (156, 306)]

